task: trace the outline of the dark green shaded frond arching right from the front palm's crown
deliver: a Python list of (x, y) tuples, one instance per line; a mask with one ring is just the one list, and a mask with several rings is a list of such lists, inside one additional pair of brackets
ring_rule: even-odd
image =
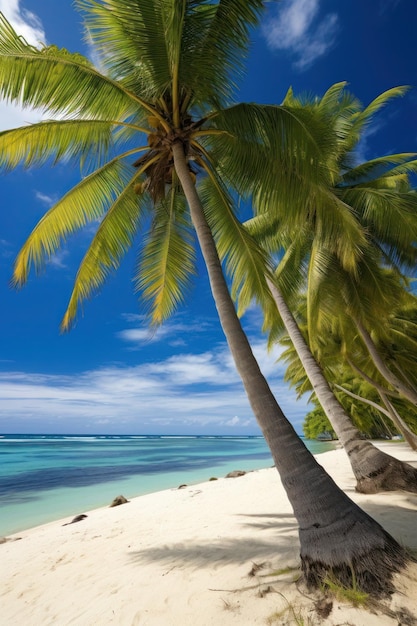
[(241, 195), (253, 197), (259, 212), (277, 210), (284, 217), (288, 208), (303, 211), (312, 188), (328, 179), (323, 154), (334, 138), (307, 109), (240, 104), (212, 123), (224, 131), (207, 137), (213, 159)]

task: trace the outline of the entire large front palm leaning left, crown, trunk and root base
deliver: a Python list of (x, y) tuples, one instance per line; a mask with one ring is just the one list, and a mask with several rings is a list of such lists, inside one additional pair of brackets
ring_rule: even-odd
[[(219, 146), (244, 162), (250, 145), (253, 180), (265, 189), (278, 180), (288, 198), (300, 177), (317, 176), (317, 145), (305, 132), (302, 112), (225, 106), (262, 4), (132, 0), (127, 9), (125, 0), (76, 0), (102, 72), (80, 55), (27, 45), (1, 20), (1, 95), (60, 116), (2, 133), (1, 164), (71, 158), (88, 166), (85, 178), (27, 239), (14, 282), (24, 284), (30, 267), (39, 268), (69, 233), (96, 224), (64, 316), (67, 329), (150, 218), (135, 280), (158, 324), (183, 297), (194, 269), (195, 232), (222, 328), (299, 522), (307, 582), (320, 584), (332, 571), (342, 582), (354, 577), (360, 587), (383, 593), (406, 563), (405, 552), (336, 486), (283, 415), (242, 330), (223, 270), (224, 262), (239, 278), (242, 306), (254, 293), (266, 300), (263, 253), (241, 227), (228, 194), (240, 170), (224, 170)], [(323, 142), (325, 135), (323, 127)], [(196, 176), (208, 181), (200, 193)]]

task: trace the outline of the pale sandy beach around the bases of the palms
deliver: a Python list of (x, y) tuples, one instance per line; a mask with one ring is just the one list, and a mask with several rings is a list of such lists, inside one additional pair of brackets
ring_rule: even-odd
[[(378, 445), (417, 467), (405, 444)], [(361, 496), (343, 450), (317, 458), (400, 543), (417, 549), (417, 495)], [(293, 582), (296, 570), (270, 575), (297, 568), (299, 552), (273, 468), (74, 511), (82, 513), (78, 523), (60, 520), (0, 545), (1, 626), (417, 624), (414, 566), (397, 579), (402, 593), (392, 597), (390, 615), (335, 601), (324, 622), (312, 595)], [(255, 563), (264, 565), (250, 576)]]

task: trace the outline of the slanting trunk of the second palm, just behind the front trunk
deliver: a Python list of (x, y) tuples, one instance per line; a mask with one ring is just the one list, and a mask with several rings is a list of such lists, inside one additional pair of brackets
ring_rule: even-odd
[(357, 481), (356, 490), (361, 493), (397, 489), (417, 492), (417, 470), (414, 467), (385, 454), (375, 448), (370, 441), (361, 438), (359, 431), (330, 389), (278, 287), (270, 280), (268, 286), (316, 396), (346, 450)]

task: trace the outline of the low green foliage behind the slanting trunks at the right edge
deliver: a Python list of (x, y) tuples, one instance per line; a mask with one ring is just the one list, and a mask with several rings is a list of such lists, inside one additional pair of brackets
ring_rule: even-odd
[[(413, 302), (414, 306), (412, 305)], [(386, 343), (386, 354), (390, 354), (393, 362), (401, 364), (401, 367), (404, 371), (407, 371), (407, 376), (412, 381), (414, 381), (415, 372), (415, 348), (413, 348), (413, 345), (415, 341), (416, 303), (417, 300), (410, 296), (408, 307), (398, 307), (398, 309), (392, 311), (391, 335), (387, 335), (390, 338)], [(305, 298), (299, 300), (295, 313), (300, 330), (303, 332), (308, 344)], [(379, 384), (385, 389), (384, 381), (375, 369), (363, 344), (358, 341), (357, 337), (355, 338), (349, 333), (346, 326), (339, 328), (336, 322), (337, 318), (333, 318), (331, 332), (321, 337), (317, 342), (319, 348), (315, 353), (316, 359), (325, 378), (345, 412), (351, 417), (356, 428), (364, 436), (385, 438), (397, 434), (396, 427), (383, 412), (386, 409), (375, 385), (371, 384), (371, 380), (374, 380), (375, 384)], [(406, 328), (407, 332), (401, 332), (401, 327), (403, 327), (403, 330)], [(343, 332), (345, 335), (343, 335)], [(304, 433), (306, 437), (315, 438), (321, 432), (331, 431), (330, 423), (325, 417), (317, 397), (312, 393), (312, 384), (305, 373), (292, 342), (285, 332), (281, 332), (279, 342), (285, 347), (281, 355), (281, 360), (287, 365), (285, 380), (295, 387), (299, 396), (310, 393), (310, 399), (315, 405), (315, 408), (305, 418)], [(369, 381), (360, 376), (358, 371), (352, 369), (350, 365), (352, 359), (360, 364), (364, 373), (370, 377)], [(389, 388), (386, 391), (388, 394), (392, 394), (392, 390)], [(410, 402), (395, 395), (389, 395), (389, 397), (401, 418), (408, 424), (411, 430), (417, 432), (417, 410), (415, 407)]]

